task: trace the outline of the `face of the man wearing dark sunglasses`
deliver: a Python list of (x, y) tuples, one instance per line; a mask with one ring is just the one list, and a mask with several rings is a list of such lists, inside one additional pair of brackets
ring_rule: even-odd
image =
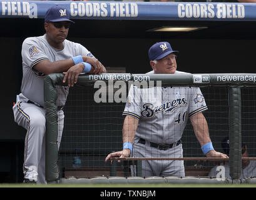
[(62, 43), (66, 37), (68, 36), (69, 21), (61, 21), (61, 22), (45, 22), (44, 28), (46, 29), (46, 34), (49, 39), (54, 43)]

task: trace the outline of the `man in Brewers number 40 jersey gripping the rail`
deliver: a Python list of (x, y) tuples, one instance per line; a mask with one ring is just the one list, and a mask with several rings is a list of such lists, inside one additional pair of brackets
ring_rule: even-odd
[[(177, 52), (168, 42), (151, 46), (148, 56), (153, 71), (148, 74), (186, 74), (176, 70)], [(126, 116), (123, 151), (109, 154), (105, 161), (111, 157), (126, 158), (130, 154), (134, 158), (183, 158), (181, 138), (188, 118), (203, 153), (207, 157), (228, 158), (213, 149), (202, 114), (207, 105), (199, 88), (131, 86), (127, 99), (123, 112)], [(142, 175), (183, 177), (185, 169), (181, 160), (143, 160)]]

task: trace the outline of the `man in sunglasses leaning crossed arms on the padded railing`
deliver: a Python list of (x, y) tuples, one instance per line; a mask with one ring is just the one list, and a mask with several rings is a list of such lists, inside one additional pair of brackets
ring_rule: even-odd
[[(46, 34), (24, 40), (21, 93), (13, 106), (14, 121), (27, 130), (24, 148), (24, 183), (46, 183), (45, 180), (45, 111), (44, 78), (64, 73), (63, 82), (74, 86), (80, 73), (106, 73), (105, 67), (81, 44), (68, 41), (69, 11), (53, 6), (46, 12)], [(58, 148), (64, 126), (63, 107), (69, 87), (58, 87)]]

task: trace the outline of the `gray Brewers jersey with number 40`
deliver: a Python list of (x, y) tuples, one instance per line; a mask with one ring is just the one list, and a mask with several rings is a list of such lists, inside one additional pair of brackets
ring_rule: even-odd
[(139, 119), (135, 141), (171, 144), (182, 138), (188, 118), (206, 109), (200, 88), (131, 86), (123, 115)]

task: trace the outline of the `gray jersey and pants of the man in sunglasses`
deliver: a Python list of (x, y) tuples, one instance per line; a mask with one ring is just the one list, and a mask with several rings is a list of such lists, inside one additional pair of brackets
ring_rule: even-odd
[[(21, 94), (17, 97), (13, 111), (16, 123), (27, 129), (24, 149), (24, 178), (38, 180), (37, 183), (46, 183), (44, 178), (45, 142), (43, 134), (39, 134), (45, 132), (45, 111), (43, 109), (45, 75), (36, 71), (33, 66), (46, 59), (54, 62), (78, 55), (94, 56), (81, 44), (66, 39), (63, 49), (54, 49), (46, 40), (46, 34), (25, 39), (21, 54), (23, 80)], [(64, 124), (64, 113), (61, 108), (66, 102), (68, 90), (68, 87), (58, 86), (58, 99), (56, 100), (58, 106), (58, 148)], [(40, 118), (40, 116), (42, 117)], [(33, 154), (29, 154), (31, 152)]]

